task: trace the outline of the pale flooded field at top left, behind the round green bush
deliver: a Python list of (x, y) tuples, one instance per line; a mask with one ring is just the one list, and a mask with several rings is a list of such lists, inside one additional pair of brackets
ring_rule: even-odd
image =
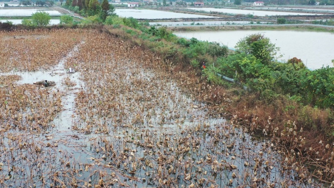
[(61, 16), (62, 14), (56, 10), (50, 9), (0, 9), (1, 17), (12, 17), (12, 16), (31, 16), (37, 11), (45, 11), (50, 16)]

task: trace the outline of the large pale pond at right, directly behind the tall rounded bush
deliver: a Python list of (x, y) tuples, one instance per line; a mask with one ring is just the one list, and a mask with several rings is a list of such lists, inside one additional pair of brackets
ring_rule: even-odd
[(324, 66), (333, 67), (334, 34), (315, 31), (187, 31), (176, 32), (177, 36), (196, 38), (202, 41), (219, 42), (230, 48), (242, 38), (253, 33), (262, 33), (272, 43), (280, 47), (279, 53), (283, 55), (281, 61), (293, 57), (301, 59), (310, 69)]

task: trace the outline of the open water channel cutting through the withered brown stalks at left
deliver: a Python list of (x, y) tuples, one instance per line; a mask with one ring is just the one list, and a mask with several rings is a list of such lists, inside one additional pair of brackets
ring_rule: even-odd
[[(84, 42), (81, 42), (83, 44)], [(51, 68), (51, 70), (41, 70), (41, 71), (34, 71), (34, 72), (21, 72), (21, 71), (11, 71), (6, 73), (0, 73), (0, 75), (19, 75), (21, 76), (21, 80), (17, 82), (17, 84), (32, 84), (39, 81), (47, 80), (55, 82), (55, 86), (45, 87), (50, 93), (55, 91), (60, 91), (59, 93), (62, 95), (62, 104), (63, 110), (54, 118), (50, 124), (53, 128), (49, 128), (45, 130), (41, 135), (31, 135), (27, 133), (27, 140), (23, 140), (26, 143), (31, 142), (33, 140), (36, 143), (54, 143), (58, 145), (56, 149), (49, 149), (46, 152), (46, 155), (50, 158), (45, 158), (45, 161), (53, 161), (54, 166), (52, 168), (58, 168), (61, 170), (62, 167), (59, 167), (60, 164), (57, 161), (63, 161), (64, 159), (72, 158), (71, 161), (76, 161), (80, 159), (86, 159), (89, 155), (89, 149), (85, 149), (87, 147), (86, 142), (88, 142), (87, 138), (82, 137), (82, 140), (79, 141), (79, 136), (72, 131), (71, 126), (73, 124), (73, 119), (75, 117), (75, 106), (74, 106), (74, 99), (76, 98), (76, 93), (84, 87), (84, 82), (80, 80), (80, 74), (78, 72), (75, 73), (67, 73), (68, 68), (64, 67), (64, 63), (67, 61), (69, 57), (72, 56), (72, 53), (76, 53), (78, 51), (79, 46), (75, 46), (72, 51), (70, 51), (63, 59), (59, 61), (59, 64)], [(75, 86), (70, 87), (64, 84), (64, 79), (69, 79), (71, 82), (75, 84)], [(41, 86), (43, 88), (43, 86)], [(45, 139), (46, 138), (46, 139)], [(8, 142), (5, 139), (4, 142)], [(78, 152), (80, 149), (81, 152)], [(84, 151), (84, 152), (83, 152)], [(45, 152), (45, 151), (44, 151)], [(73, 162), (73, 164), (75, 164)], [(24, 164), (25, 165), (25, 164)], [(22, 169), (25, 169), (24, 165), (22, 165)], [(58, 167), (56, 167), (58, 165)], [(51, 165), (52, 166), (52, 165)], [(29, 172), (27, 168), (26, 177), (34, 177), (36, 174)], [(23, 170), (22, 170), (23, 171)], [(45, 170), (48, 173), (51, 173), (52, 170)], [(9, 172), (9, 174), (11, 174)], [(25, 183), (22, 181), (15, 180), (17, 179), (24, 179), (23, 176), (9, 176), (11, 181), (8, 180), (9, 185), (14, 187), (19, 187), (22, 185), (29, 185), (28, 181)], [(16, 183), (17, 182), (17, 183)], [(34, 185), (38, 187), (43, 187), (42, 183), (39, 183), (35, 180)], [(25, 187), (25, 186), (23, 186)]]

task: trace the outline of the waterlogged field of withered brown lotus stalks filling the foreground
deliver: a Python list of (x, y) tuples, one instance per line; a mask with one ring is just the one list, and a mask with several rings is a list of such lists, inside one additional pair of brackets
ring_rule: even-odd
[(224, 93), (140, 46), (95, 30), (0, 36), (0, 187), (321, 187), (299, 152), (196, 100)]

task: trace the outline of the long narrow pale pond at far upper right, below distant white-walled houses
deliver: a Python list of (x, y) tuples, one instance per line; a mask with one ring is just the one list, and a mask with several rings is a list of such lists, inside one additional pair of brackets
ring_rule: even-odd
[(228, 14), (251, 14), (253, 16), (321, 15), (313, 13), (275, 12), (275, 11), (241, 10), (241, 9), (228, 9), (228, 8), (188, 8), (188, 9), (197, 11), (206, 11), (206, 12), (223, 12)]

